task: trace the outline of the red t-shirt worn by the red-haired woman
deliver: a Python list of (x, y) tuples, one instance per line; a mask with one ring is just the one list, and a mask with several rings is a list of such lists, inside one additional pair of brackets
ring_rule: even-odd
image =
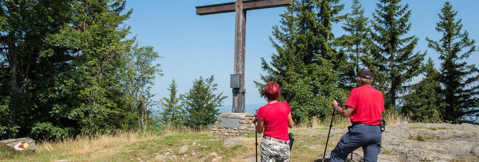
[(264, 122), (263, 134), (268, 137), (288, 141), (288, 115), (291, 111), (286, 102), (266, 104), (260, 109), (256, 117)]

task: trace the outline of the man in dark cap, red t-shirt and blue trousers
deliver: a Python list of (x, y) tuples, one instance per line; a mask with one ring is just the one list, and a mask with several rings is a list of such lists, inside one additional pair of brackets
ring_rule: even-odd
[(353, 126), (341, 137), (331, 151), (330, 162), (344, 162), (348, 154), (363, 148), (364, 162), (377, 162), (381, 151), (381, 115), (384, 112), (384, 98), (381, 91), (371, 87), (373, 73), (362, 69), (356, 75), (359, 87), (349, 94), (344, 109), (342, 104), (333, 101), (332, 107), (343, 117), (349, 117)]

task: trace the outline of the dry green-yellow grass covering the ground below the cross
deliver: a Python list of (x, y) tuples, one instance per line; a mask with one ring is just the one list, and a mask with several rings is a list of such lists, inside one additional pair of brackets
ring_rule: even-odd
[[(293, 145), (290, 157), (292, 162), (313, 162), (316, 158), (323, 155), (326, 137), (311, 134), (302, 135), (298, 134), (298, 132), (300, 131), (293, 130), (293, 133), (295, 133), (295, 143)], [(261, 137), (261, 134), (258, 134), (258, 137)], [(340, 137), (341, 136), (339, 135), (330, 137), (330, 142), (328, 144), (329, 149), (327, 151), (331, 151), (331, 149), (337, 144), (337, 142), (332, 141), (331, 139), (339, 139)], [(194, 141), (196, 141), (197, 146), (191, 146)], [(96, 143), (97, 141), (91, 139), (90, 142)], [(241, 162), (241, 159), (254, 157), (255, 147), (254, 134), (248, 135), (243, 139), (242, 143), (230, 148), (223, 146), (223, 140), (208, 137), (207, 133), (158, 136), (155, 138), (150, 137), (139, 141), (124, 142), (125, 143), (112, 143), (111, 147), (98, 145), (93, 148), (97, 150), (85, 149), (88, 152), (71, 152), (69, 150), (61, 149), (48, 150), (46, 149), (46, 146), (42, 146), (42, 144), (37, 145), (39, 146), (39, 149), (37, 149), (37, 151), (33, 154), (22, 154), (17, 151), (0, 149), (0, 162), (55, 162), (57, 160), (63, 159), (73, 162), (131, 162), (131, 159), (137, 161), (137, 158), (140, 158), (143, 161), (149, 160), (150, 162), (153, 162), (156, 161), (154, 159), (155, 153), (164, 155), (166, 152), (168, 152), (168, 149), (172, 149), (171, 155), (176, 155), (179, 158), (183, 157), (183, 154), (177, 154), (183, 145), (188, 145), (188, 150), (185, 152), (185, 154), (188, 156), (184, 157), (184, 160), (177, 159), (175, 160), (176, 162), (196, 162), (200, 161), (202, 157), (205, 157), (207, 162), (211, 162), (212, 159), (215, 158), (209, 155), (211, 152), (217, 152), (218, 156), (223, 157), (222, 161), (218, 162)], [(73, 143), (64, 143), (64, 145), (68, 144), (73, 145)], [(63, 144), (58, 145), (63, 146)], [(306, 145), (313, 145), (320, 149), (313, 150), (308, 148)], [(56, 145), (52, 145), (52, 147), (55, 146)], [(259, 146), (258, 149), (260, 149)], [(193, 156), (192, 152), (195, 152), (196, 156)], [(171, 161), (168, 158), (165, 160), (167, 160), (167, 162)]]

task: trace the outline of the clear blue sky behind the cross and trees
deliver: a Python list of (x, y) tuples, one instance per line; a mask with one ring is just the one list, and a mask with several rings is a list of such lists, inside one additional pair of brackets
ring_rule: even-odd
[[(234, 0), (129, 0), (127, 9), (133, 8), (131, 18), (126, 21), (131, 26), (132, 34), (145, 46), (155, 47), (160, 58), (156, 63), (161, 64), (163, 77), (157, 77), (152, 93), (156, 93), (154, 100), (160, 101), (169, 96), (167, 91), (171, 79), (178, 84), (178, 93), (186, 93), (194, 79), (200, 75), (209, 77), (215, 75), (219, 84), (217, 93), (228, 95), (224, 105), (231, 105), (231, 89), (229, 88), (229, 74), (233, 74), (234, 60), (234, 25), (235, 14), (221, 13), (199, 16), (195, 14), (195, 6), (230, 2)], [(363, 0), (366, 16), (376, 9), (377, 0)], [(409, 3), (412, 10), (412, 28), (408, 35), (416, 35), (420, 41), (416, 51), (428, 50), (428, 56), (439, 66), (438, 55), (427, 47), (424, 38), (427, 36), (438, 40), (442, 34), (434, 28), (439, 20), (437, 13), (443, 7), (445, 0), (403, 0), (401, 4)], [(351, 0), (341, 0), (345, 4), (342, 14), (351, 11)], [(463, 29), (468, 30), (472, 39), (479, 41), (478, 15), (479, 0), (452, 0), (453, 9), (458, 11), (456, 18), (462, 18)], [(270, 60), (276, 51), (271, 46), (269, 36), (272, 35), (272, 26), (279, 24), (279, 14), (285, 8), (253, 10), (247, 12), (246, 18), (246, 65), (245, 88), (246, 104), (265, 103), (254, 86), (253, 81), (260, 81), (261, 57)], [(342, 23), (333, 25), (333, 34), (338, 37), (345, 32)], [(478, 45), (478, 43), (476, 43)], [(467, 61), (470, 64), (479, 64), (479, 52), (475, 52)], [(420, 80), (420, 79), (418, 79)]]

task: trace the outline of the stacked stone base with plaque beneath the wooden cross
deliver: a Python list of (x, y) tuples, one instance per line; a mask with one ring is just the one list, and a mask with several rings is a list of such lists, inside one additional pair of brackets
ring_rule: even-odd
[[(211, 127), (209, 136), (213, 136), (216, 139), (229, 139), (244, 137), (248, 134), (254, 133), (253, 124), (254, 114), (251, 113), (224, 113), (220, 114), (216, 119), (215, 124)], [(220, 127), (221, 119), (223, 118), (239, 118), (238, 128)]]

